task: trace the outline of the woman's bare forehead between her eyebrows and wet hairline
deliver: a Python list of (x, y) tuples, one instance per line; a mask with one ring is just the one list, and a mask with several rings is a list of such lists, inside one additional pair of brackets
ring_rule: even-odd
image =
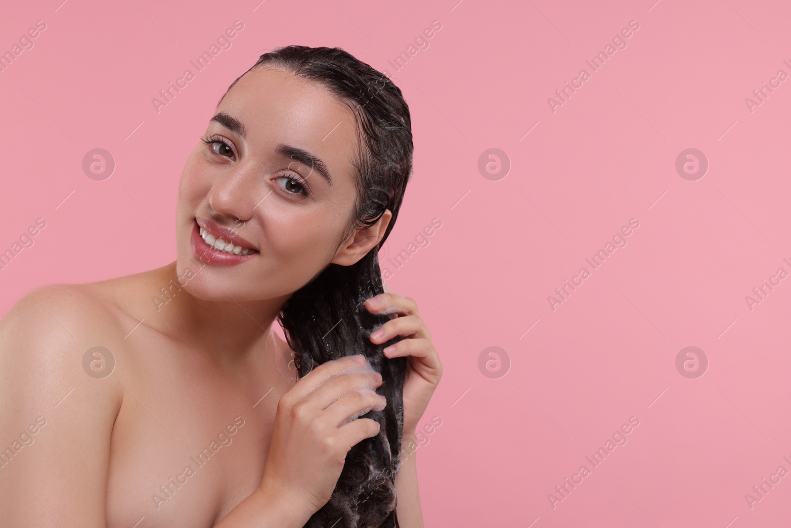
[(217, 112), (244, 124), (252, 151), (259, 146), (296, 146), (321, 158), (333, 176), (350, 172), (358, 144), (354, 112), (316, 82), (259, 67), (233, 85)]

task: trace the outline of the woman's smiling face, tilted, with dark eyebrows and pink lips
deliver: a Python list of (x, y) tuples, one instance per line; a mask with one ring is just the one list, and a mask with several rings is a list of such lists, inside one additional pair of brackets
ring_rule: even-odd
[(181, 174), (181, 285), (204, 299), (287, 298), (338, 260), (356, 193), (356, 127), (315, 83), (262, 67), (244, 74), (210, 120), (211, 143), (199, 142)]

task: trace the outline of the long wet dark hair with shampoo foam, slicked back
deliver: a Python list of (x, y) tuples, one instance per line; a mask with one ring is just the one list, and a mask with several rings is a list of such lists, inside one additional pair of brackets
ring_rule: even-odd
[(294, 292), (278, 315), (286, 340), (296, 353), (300, 377), (320, 363), (363, 354), (382, 374), (383, 383), (377, 393), (388, 401), (383, 411), (362, 416), (380, 423), (379, 434), (362, 440), (346, 454), (335, 492), (305, 526), (399, 526), (395, 515), (395, 477), (403, 435), (402, 392), (407, 358), (389, 359), (382, 353), (399, 338), (380, 345), (371, 343), (371, 332), (388, 317), (369, 313), (363, 303), (384, 292), (377, 253), (395, 225), (412, 172), (409, 108), (401, 90), (387, 76), (339, 47), (277, 47), (261, 55), (250, 70), (258, 67), (287, 70), (316, 82), (354, 112), (358, 153), (351, 163), (357, 196), (338, 247), (355, 229), (373, 226), (384, 211), (392, 212), (384, 237), (369, 253), (350, 266), (328, 264)]

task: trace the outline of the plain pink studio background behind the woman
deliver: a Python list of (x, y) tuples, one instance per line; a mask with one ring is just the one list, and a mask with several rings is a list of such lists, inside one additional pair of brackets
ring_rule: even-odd
[[(6, 9), (0, 51), (47, 28), (0, 73), (0, 251), (36, 218), (47, 227), (0, 271), (0, 313), (26, 289), (175, 260), (178, 179), (221, 94), (271, 48), (343, 47), (388, 70), (412, 112), (414, 179), (382, 256), (442, 222), (388, 281), (417, 300), (445, 365), (422, 420), (442, 424), (416, 455), (426, 526), (781, 526), (791, 477), (752, 508), (745, 494), (791, 470), (791, 279), (753, 310), (745, 296), (791, 272), (791, 80), (753, 112), (744, 100), (791, 74), (791, 7), (654, 2)], [(235, 20), (233, 47), (157, 113), (152, 98)], [(388, 60), (434, 20), (396, 72)], [(627, 47), (592, 72), (585, 60), (630, 21)], [(591, 78), (552, 112), (582, 68)], [(117, 164), (103, 181), (81, 169), (97, 147)], [(490, 148), (511, 162), (501, 180), (479, 173)], [(687, 148), (709, 161), (699, 180), (676, 173)], [(630, 218), (626, 247), (592, 270), (585, 258)], [(510, 361), (500, 378), (479, 369), (492, 346)], [(702, 377), (676, 370), (687, 346), (709, 360)], [(590, 465), (630, 416), (628, 443)], [(547, 494), (581, 465), (591, 473), (553, 508)]]

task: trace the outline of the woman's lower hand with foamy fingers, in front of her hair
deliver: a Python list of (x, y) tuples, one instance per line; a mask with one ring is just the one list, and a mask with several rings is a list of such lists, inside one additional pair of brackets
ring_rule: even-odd
[(306, 515), (320, 510), (335, 490), (346, 453), (379, 433), (379, 423), (369, 418), (340, 426), (367, 409), (384, 408), (384, 397), (374, 392), (381, 383), (362, 355), (327, 361), (298, 380), (278, 402), (259, 490), (309, 510)]

